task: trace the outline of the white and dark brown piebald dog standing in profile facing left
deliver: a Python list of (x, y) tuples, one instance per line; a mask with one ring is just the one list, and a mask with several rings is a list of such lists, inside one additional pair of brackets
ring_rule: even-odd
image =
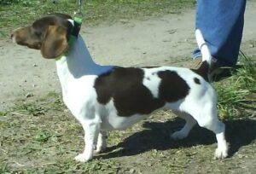
[(96, 64), (78, 38), (69, 44), (74, 28), (67, 14), (49, 14), (18, 28), (15, 43), (40, 49), (55, 59), (63, 101), (84, 128), (84, 152), (75, 157), (85, 162), (106, 148), (106, 131), (124, 130), (159, 109), (172, 109), (186, 120), (173, 139), (189, 135), (198, 123), (216, 134), (215, 158), (228, 155), (224, 124), (218, 119), (216, 94), (207, 79), (211, 55), (199, 30), (195, 35), (202, 52), (199, 69), (183, 67), (116, 67)]

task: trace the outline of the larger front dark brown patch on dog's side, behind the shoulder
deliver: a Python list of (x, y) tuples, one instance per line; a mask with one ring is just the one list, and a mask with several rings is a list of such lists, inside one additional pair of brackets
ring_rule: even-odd
[(98, 102), (107, 104), (113, 98), (118, 114), (122, 117), (152, 113), (164, 106), (165, 102), (155, 99), (143, 85), (143, 76), (143, 70), (134, 67), (117, 67), (99, 76), (95, 83)]

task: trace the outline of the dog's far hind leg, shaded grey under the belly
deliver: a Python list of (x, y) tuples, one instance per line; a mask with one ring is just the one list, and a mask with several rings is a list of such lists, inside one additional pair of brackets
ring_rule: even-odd
[(175, 113), (178, 117), (185, 119), (186, 124), (183, 126), (183, 128), (180, 131), (175, 131), (174, 133), (172, 133), (171, 137), (173, 139), (183, 139), (189, 135), (189, 131), (191, 131), (193, 126), (196, 124), (196, 121), (188, 113), (178, 112), (178, 111), (172, 111), (172, 112)]

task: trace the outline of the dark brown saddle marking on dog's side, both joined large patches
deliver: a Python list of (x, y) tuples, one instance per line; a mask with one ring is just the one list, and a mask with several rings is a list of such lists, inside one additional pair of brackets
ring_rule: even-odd
[[(155, 74), (157, 75), (157, 74)], [(96, 78), (97, 100), (107, 104), (113, 99), (119, 116), (129, 117), (133, 114), (148, 114), (163, 107), (166, 102), (176, 102), (189, 94), (189, 86), (177, 73), (162, 71), (160, 95), (154, 98), (151, 91), (143, 85), (144, 72), (140, 68), (115, 67), (113, 71)]]

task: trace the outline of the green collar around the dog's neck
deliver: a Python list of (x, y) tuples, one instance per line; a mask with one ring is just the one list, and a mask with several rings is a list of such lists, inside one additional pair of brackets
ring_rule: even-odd
[[(78, 39), (81, 25), (82, 25), (82, 18), (74, 17), (73, 18), (73, 28), (72, 28), (72, 31), (71, 31), (71, 35), (68, 39), (69, 49), (73, 47), (73, 44)], [(65, 51), (65, 53), (63, 55), (68, 55), (68, 51), (69, 50), (67, 49), (67, 51)], [(62, 55), (56, 57), (55, 60), (57, 61), (57, 60), (61, 59), (61, 56)]]

